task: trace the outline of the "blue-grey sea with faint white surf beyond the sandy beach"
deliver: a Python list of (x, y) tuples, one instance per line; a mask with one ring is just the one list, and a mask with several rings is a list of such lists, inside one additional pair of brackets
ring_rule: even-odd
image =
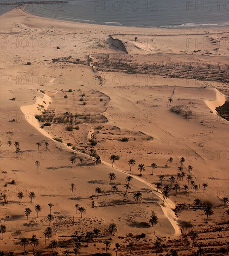
[[(5, 9), (4, 9), (5, 8)], [(7, 7), (1, 8), (1, 14)], [(228, 0), (70, 0), (26, 5), (41, 17), (130, 27), (219, 27), (229, 25)]]

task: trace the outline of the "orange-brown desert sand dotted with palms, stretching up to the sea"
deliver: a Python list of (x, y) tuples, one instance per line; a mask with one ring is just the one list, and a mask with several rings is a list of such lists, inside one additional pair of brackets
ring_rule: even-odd
[[(115, 44), (109, 35), (117, 39)], [(22, 255), (20, 238), (36, 235), (35, 250), (52, 255), (48, 246), (56, 240), (59, 248), (54, 251), (75, 255), (77, 236), (82, 236), (81, 255), (104, 253), (105, 241), (110, 242), (111, 255), (116, 255), (115, 243), (121, 245), (118, 255), (130, 255), (130, 242), (131, 255), (165, 255), (171, 249), (180, 256), (196, 255), (199, 247), (206, 254), (226, 255), (229, 216), (223, 215), (228, 206), (221, 200), (229, 197), (229, 121), (215, 108), (229, 98), (227, 27), (100, 26), (14, 9), (0, 16), (0, 36), (0, 224), (6, 226), (1, 250)], [(200, 40), (204, 43), (196, 46)], [(133, 72), (142, 67), (148, 74)], [(190, 78), (193, 68), (210, 79)], [(51, 125), (44, 126), (48, 122)], [(101, 163), (95, 164), (96, 155)], [(119, 156), (114, 166), (111, 155)], [(72, 157), (76, 161), (71, 166)], [(167, 163), (170, 157), (173, 161)], [(130, 159), (135, 160), (131, 170)], [(152, 163), (157, 165), (153, 175)], [(145, 165), (141, 176), (140, 164)], [(184, 177), (177, 178), (180, 166)], [(110, 173), (116, 176), (111, 182)], [(129, 175), (133, 180), (126, 189)], [(162, 187), (157, 188), (160, 175)], [(165, 198), (163, 187), (173, 188), (176, 182), (178, 191), (172, 189)], [(19, 192), (24, 195), (20, 204)], [(30, 192), (35, 193), (32, 202)], [(125, 192), (128, 198), (123, 200)], [(135, 200), (136, 192), (141, 200)], [(202, 201), (197, 209), (196, 198)], [(213, 204), (208, 223), (205, 202)], [(38, 217), (37, 204), (42, 208)], [(86, 210), (82, 217), (76, 214), (76, 204)], [(32, 210), (28, 219), (25, 208)], [(158, 217), (154, 226), (149, 223), (152, 211)], [(187, 222), (192, 227), (185, 228)], [(109, 240), (111, 223), (117, 231)], [(53, 232), (45, 240), (49, 225)], [(95, 237), (85, 240), (95, 228), (101, 230), (96, 245)], [(193, 247), (191, 230), (198, 234)], [(158, 249), (156, 241), (161, 243)], [(32, 255), (33, 245), (25, 250)]]

